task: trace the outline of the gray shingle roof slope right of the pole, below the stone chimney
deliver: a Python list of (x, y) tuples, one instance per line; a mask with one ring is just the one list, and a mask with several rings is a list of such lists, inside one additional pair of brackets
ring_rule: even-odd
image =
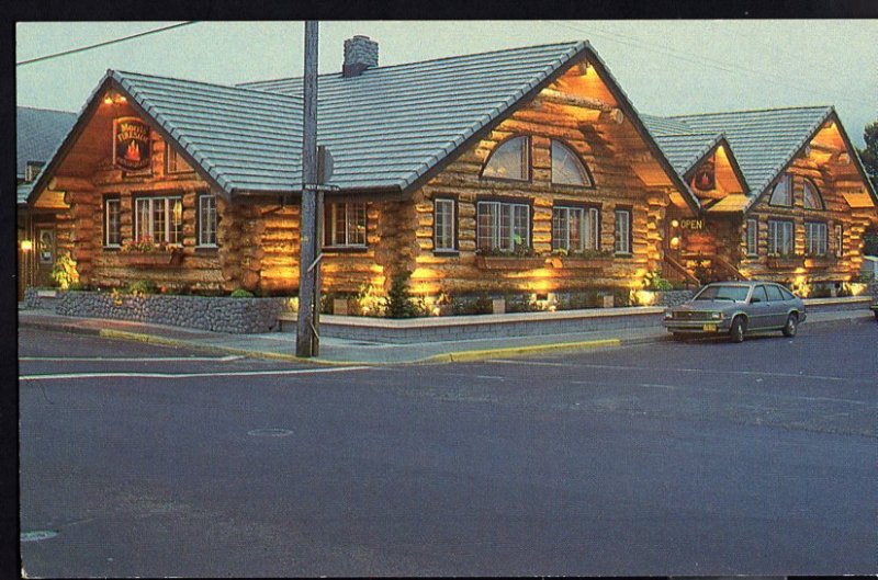
[[(335, 157), (331, 184), (405, 189), (583, 50), (563, 43), (318, 78), (317, 140)], [(302, 94), (302, 78), (239, 87)]]

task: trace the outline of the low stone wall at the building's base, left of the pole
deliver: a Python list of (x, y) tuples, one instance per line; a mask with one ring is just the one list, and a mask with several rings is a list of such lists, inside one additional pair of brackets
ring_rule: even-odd
[(284, 302), (284, 298), (153, 295), (114, 298), (103, 292), (59, 292), (55, 311), (63, 316), (112, 318), (247, 334), (277, 330)]

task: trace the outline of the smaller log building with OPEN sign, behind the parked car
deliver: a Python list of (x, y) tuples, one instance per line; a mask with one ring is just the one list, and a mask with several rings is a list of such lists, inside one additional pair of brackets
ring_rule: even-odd
[(832, 106), (643, 120), (701, 206), (695, 221), (672, 217), (677, 270), (802, 294), (859, 271), (877, 200)]

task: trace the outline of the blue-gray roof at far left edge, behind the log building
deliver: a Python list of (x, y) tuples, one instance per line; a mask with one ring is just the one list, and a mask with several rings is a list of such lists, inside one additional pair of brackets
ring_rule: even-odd
[(29, 161), (48, 161), (76, 118), (76, 113), (66, 111), (15, 107), (15, 175), (24, 179)]

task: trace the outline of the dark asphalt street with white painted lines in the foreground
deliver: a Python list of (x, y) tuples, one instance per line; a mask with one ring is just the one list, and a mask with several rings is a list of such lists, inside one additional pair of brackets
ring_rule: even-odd
[(317, 367), (23, 330), (23, 567), (875, 573), (877, 340)]

